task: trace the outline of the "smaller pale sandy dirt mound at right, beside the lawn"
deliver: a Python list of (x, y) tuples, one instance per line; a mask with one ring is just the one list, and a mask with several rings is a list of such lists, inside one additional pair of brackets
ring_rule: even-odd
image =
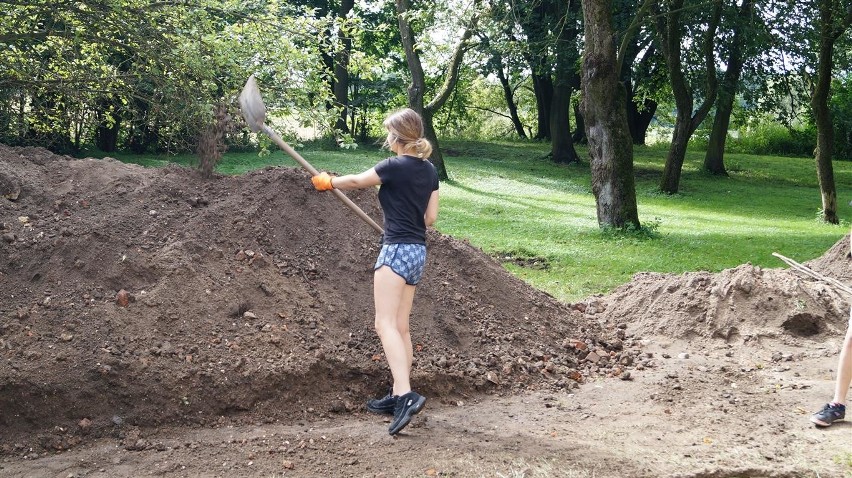
[[(807, 265), (841, 281), (852, 278), (849, 237)], [(602, 317), (629, 323), (637, 336), (683, 340), (722, 339), (742, 343), (757, 338), (842, 335), (849, 297), (830, 284), (791, 269), (744, 264), (718, 274), (640, 273), (597, 300)]]

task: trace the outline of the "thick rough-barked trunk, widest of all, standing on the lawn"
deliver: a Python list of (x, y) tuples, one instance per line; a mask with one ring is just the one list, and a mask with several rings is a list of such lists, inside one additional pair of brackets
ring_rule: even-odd
[(618, 81), (612, 12), (608, 0), (583, 0), (583, 117), (592, 162), (592, 191), (602, 227), (639, 228), (633, 178), (633, 144), (625, 91)]

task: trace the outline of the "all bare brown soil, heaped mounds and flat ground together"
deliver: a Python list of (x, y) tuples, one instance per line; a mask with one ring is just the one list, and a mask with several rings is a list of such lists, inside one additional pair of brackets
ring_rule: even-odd
[[(376, 233), (301, 170), (0, 145), (0, 475), (852, 476), (847, 298), (786, 268), (561, 303), (429, 233), (397, 437), (364, 409)], [(381, 218), (375, 191), (351, 192)], [(849, 237), (805, 263), (849, 283)], [(797, 258), (801, 259), (801, 258)]]

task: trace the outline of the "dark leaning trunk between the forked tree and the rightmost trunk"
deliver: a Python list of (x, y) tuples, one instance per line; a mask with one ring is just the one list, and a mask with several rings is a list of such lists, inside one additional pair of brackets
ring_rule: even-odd
[(734, 98), (739, 89), (740, 75), (743, 71), (743, 43), (752, 17), (752, 0), (743, 0), (740, 6), (738, 21), (735, 23), (734, 38), (731, 40), (731, 52), (728, 57), (728, 69), (719, 87), (719, 98), (716, 102), (716, 117), (713, 118), (713, 129), (707, 144), (707, 154), (704, 156), (704, 169), (711, 174), (727, 176), (725, 170), (725, 142), (728, 139), (728, 127), (731, 124), (731, 112), (734, 110)]

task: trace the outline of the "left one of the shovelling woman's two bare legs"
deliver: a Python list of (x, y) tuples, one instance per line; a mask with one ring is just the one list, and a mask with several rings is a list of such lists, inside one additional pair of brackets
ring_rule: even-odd
[[(411, 362), (406, 341), (397, 328), (397, 313), (402, 307), (405, 279), (388, 266), (376, 269), (373, 276), (373, 299), (376, 306), (376, 333), (382, 342), (388, 366), (393, 375), (393, 395), (411, 391), (409, 371)], [(409, 306), (410, 307), (410, 306)], [(408, 338), (408, 347), (411, 339)]]

